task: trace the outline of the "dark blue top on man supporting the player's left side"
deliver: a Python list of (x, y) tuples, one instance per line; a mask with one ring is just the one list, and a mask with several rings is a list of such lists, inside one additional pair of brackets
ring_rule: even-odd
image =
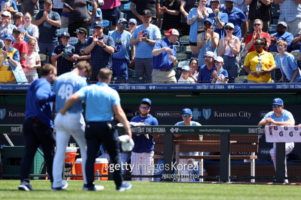
[(53, 128), (52, 105), (55, 94), (46, 78), (33, 81), (26, 96), (25, 118), (37, 117), (42, 123)]

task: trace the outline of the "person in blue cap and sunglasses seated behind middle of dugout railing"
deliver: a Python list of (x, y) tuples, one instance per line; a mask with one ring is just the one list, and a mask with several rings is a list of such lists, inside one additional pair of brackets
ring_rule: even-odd
[[(175, 125), (201, 125), (199, 122), (197, 121), (192, 121), (192, 111), (191, 109), (189, 108), (184, 108), (182, 110), (182, 114), (181, 114), (182, 118), (183, 118), (183, 121), (180, 121), (178, 123), (176, 123)], [(175, 137), (180, 137), (181, 135), (180, 134), (174, 134)], [(181, 139), (181, 138), (179, 138)], [(180, 152), (180, 155), (199, 155), (200, 152)], [(182, 166), (184, 166), (184, 164), (187, 164), (188, 162), (191, 163), (191, 161), (195, 161), (195, 159), (186, 159), (186, 158), (180, 158), (179, 160), (179, 164), (182, 164)], [(198, 167), (198, 166), (197, 166)], [(196, 170), (197, 172), (199, 170)], [(189, 175), (191, 174), (192, 172), (195, 172), (195, 171), (189, 171), (189, 170), (180, 170), (180, 174), (185, 174), (185, 175)], [(203, 169), (203, 175), (208, 175), (206, 169)], [(198, 181), (198, 179), (187, 179), (187, 178), (181, 178), (180, 181)]]

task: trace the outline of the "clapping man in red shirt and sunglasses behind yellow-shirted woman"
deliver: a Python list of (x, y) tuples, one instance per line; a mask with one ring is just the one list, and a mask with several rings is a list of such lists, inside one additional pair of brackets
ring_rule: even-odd
[[(271, 38), (270, 35), (267, 32), (262, 31), (262, 20), (261, 19), (255, 19), (253, 26), (254, 26), (254, 32), (252, 34), (249, 34), (246, 38), (246, 50), (249, 52), (255, 50), (255, 40), (260, 38), (266, 38), (266, 45), (264, 46), (264, 50), (267, 51), (269, 45), (271, 44)], [(251, 32), (250, 32), (251, 33)]]

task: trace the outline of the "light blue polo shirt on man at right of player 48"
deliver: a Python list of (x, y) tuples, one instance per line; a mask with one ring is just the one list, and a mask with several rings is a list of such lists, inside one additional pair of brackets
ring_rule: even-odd
[(120, 105), (120, 97), (118, 92), (107, 83), (97, 82), (81, 88), (76, 93), (86, 101), (87, 121), (113, 120), (112, 105)]

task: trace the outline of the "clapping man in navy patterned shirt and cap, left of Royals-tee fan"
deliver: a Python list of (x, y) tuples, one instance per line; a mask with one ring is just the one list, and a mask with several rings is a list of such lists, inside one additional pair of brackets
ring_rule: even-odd
[(112, 68), (112, 54), (115, 50), (115, 42), (111, 36), (103, 34), (103, 25), (101, 21), (95, 21), (93, 37), (88, 39), (85, 53), (91, 52), (92, 75), (91, 82), (97, 81), (99, 69), (106, 67)]

